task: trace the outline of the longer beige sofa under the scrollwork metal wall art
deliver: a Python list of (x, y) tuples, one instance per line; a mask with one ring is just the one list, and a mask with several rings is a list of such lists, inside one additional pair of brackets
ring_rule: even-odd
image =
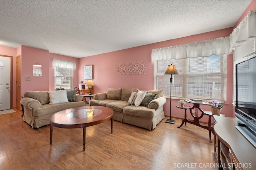
[(140, 90), (138, 88), (108, 89), (105, 93), (95, 94), (94, 100), (90, 100), (90, 105), (110, 107), (114, 110), (114, 120), (153, 130), (164, 119), (166, 98), (162, 97), (162, 90), (141, 91), (145, 92), (146, 96), (152, 96), (153, 100), (152, 98), (147, 100), (145, 96), (142, 103), (138, 102), (136, 105), (139, 104), (139, 106), (135, 106), (130, 104), (130, 100), (131, 94), (136, 92), (139, 93)]

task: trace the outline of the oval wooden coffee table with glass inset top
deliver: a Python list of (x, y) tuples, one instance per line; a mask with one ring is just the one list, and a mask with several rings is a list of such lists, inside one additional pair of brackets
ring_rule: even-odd
[(83, 128), (84, 150), (86, 127), (98, 125), (111, 119), (111, 133), (113, 132), (114, 111), (104, 106), (82, 106), (59, 111), (50, 117), (50, 145), (52, 145), (53, 127), (66, 129)]

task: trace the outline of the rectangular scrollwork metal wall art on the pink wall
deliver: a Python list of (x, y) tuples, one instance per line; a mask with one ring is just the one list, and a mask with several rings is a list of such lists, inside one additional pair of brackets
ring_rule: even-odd
[(116, 65), (116, 75), (146, 74), (146, 61)]

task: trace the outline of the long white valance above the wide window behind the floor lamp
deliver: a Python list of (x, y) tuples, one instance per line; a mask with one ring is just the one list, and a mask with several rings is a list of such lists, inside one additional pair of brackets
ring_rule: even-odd
[(228, 55), (229, 45), (229, 37), (220, 37), (184, 45), (152, 49), (151, 61)]

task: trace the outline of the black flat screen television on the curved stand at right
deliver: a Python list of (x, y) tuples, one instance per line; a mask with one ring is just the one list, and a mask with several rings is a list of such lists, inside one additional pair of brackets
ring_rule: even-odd
[(235, 111), (236, 129), (256, 147), (256, 55), (236, 64)]

